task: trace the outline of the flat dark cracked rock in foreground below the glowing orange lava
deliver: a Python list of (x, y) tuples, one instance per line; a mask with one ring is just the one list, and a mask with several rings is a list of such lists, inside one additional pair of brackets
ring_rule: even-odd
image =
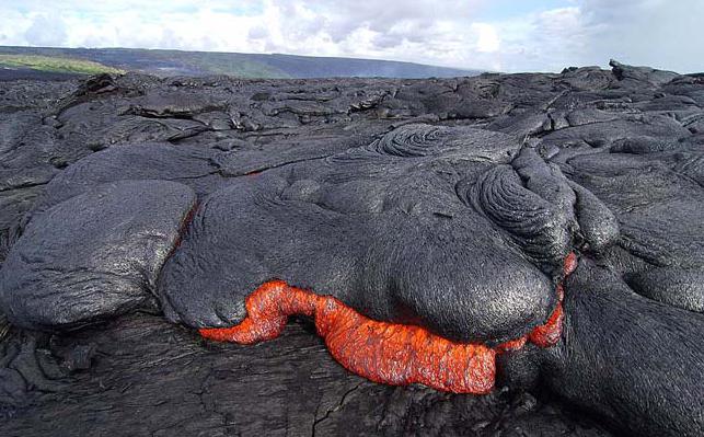
[[(299, 323), (255, 347), (204, 344), (146, 314), (23, 344), (2, 345), (0, 383), (14, 389), (0, 391), (4, 436), (611, 436), (529, 393), (458, 396), (369, 382)], [(67, 361), (89, 347), (90, 370), (71, 370)], [(27, 391), (30, 381), (42, 390)]]

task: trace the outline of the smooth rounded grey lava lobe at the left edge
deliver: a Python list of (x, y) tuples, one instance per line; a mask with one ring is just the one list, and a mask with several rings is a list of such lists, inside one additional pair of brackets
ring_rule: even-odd
[(99, 185), (36, 215), (0, 271), (0, 304), (24, 327), (66, 327), (137, 308), (193, 208), (163, 181)]

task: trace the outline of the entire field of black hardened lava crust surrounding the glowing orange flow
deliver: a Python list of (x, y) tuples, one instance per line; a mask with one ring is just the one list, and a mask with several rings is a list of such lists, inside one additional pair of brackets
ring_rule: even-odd
[[(0, 81), (0, 435), (704, 435), (704, 81), (611, 66)], [(486, 395), (198, 335), (273, 278), (491, 346), (562, 284), (564, 327)]]

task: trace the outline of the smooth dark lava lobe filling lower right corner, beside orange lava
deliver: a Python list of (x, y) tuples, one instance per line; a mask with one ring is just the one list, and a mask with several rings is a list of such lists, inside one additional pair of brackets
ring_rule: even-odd
[(587, 263), (567, 279), (565, 312), (565, 341), (543, 365), (554, 391), (635, 435), (701, 435), (704, 317)]

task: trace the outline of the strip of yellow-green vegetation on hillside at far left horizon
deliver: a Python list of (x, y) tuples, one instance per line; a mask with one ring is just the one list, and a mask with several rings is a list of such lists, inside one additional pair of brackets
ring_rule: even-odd
[(123, 73), (117, 68), (104, 66), (91, 60), (64, 58), (42, 55), (3, 55), (0, 54), (0, 66), (11, 68), (30, 68), (39, 71), (97, 74), (97, 73)]

